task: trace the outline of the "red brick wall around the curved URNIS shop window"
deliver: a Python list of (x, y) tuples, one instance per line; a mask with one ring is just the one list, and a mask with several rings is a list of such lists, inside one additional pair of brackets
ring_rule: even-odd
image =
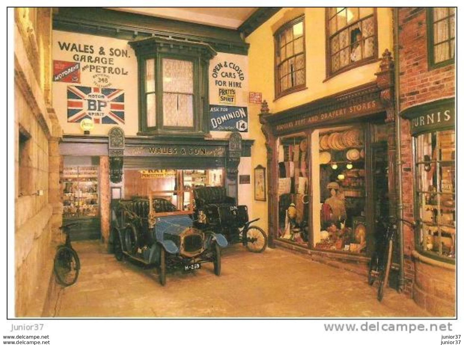
[[(427, 21), (425, 8), (406, 7), (399, 9), (399, 44), (400, 44), (400, 111), (455, 95), (455, 65), (430, 69), (427, 55)], [(401, 160), (403, 162), (403, 207), (404, 218), (414, 220), (414, 176), (412, 175), (412, 137), (410, 122), (401, 119)], [(410, 226), (404, 226), (405, 248), (405, 293), (414, 297), (419, 305), (425, 307), (417, 290), (419, 261), (412, 258), (414, 250), (414, 232)], [(446, 272), (446, 276), (450, 273)], [(432, 277), (431, 277), (432, 278)], [(425, 278), (422, 277), (422, 281)], [(415, 285), (413, 287), (413, 284)], [(426, 286), (426, 285), (425, 285)], [(413, 294), (414, 292), (414, 294)], [(433, 303), (429, 302), (431, 306)], [(427, 307), (427, 309), (430, 309)], [(429, 310), (437, 312), (437, 308)], [(442, 315), (444, 312), (439, 311)], [(435, 313), (436, 314), (436, 313)]]

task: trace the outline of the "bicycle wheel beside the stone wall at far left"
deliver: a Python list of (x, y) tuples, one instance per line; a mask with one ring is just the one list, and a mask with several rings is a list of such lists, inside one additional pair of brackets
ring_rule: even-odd
[(69, 247), (58, 249), (53, 260), (53, 271), (58, 283), (64, 286), (74, 284), (79, 276), (80, 266), (79, 257), (74, 249)]

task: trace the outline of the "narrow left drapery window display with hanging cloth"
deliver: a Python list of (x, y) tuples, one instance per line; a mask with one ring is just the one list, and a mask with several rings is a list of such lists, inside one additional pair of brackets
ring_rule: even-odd
[(309, 158), (306, 134), (278, 140), (278, 233), (277, 237), (307, 244)]

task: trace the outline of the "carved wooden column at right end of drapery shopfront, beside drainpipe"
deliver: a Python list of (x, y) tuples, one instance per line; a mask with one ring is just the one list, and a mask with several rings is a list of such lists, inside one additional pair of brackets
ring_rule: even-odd
[(394, 98), (394, 63), (392, 53), (386, 49), (382, 54), (380, 72), (377, 75), (377, 86), (380, 90), (380, 101), (387, 111), (387, 151), (388, 151), (388, 200), (390, 216), (396, 215), (396, 147), (395, 147), (395, 98)]

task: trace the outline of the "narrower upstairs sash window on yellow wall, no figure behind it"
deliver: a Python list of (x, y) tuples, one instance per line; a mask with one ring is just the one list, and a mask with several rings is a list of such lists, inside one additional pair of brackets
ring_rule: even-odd
[(285, 24), (274, 34), (276, 98), (306, 86), (304, 17)]

